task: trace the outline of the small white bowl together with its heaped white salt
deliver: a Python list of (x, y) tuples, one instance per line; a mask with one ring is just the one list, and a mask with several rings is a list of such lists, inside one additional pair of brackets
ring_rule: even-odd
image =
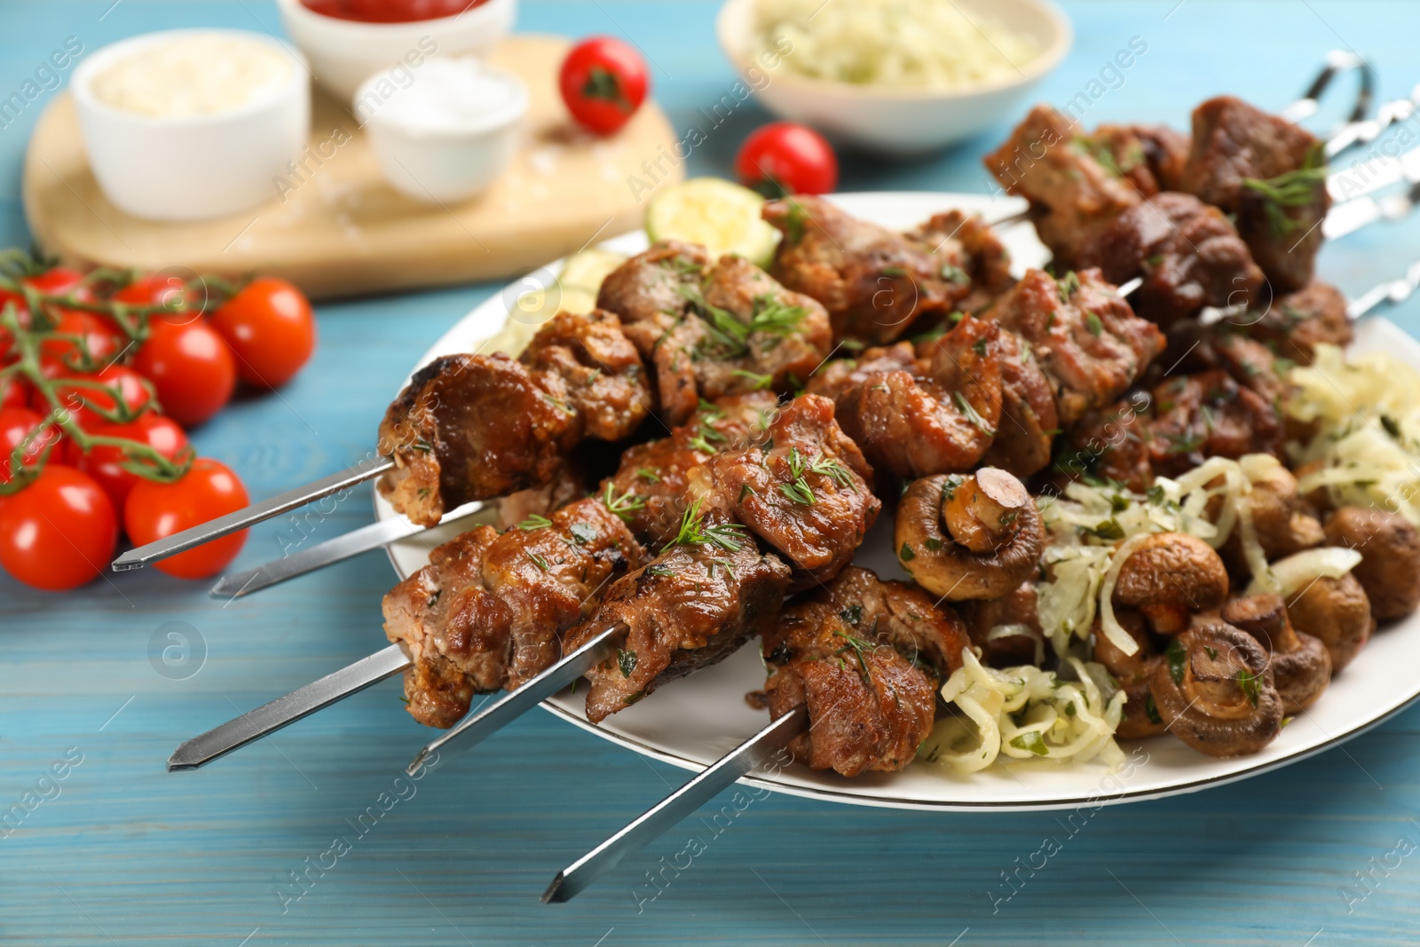
[(517, 149), (527, 109), (518, 77), (473, 57), (429, 60), (417, 75), (376, 72), (354, 98), (385, 180), (426, 203), (487, 190)]

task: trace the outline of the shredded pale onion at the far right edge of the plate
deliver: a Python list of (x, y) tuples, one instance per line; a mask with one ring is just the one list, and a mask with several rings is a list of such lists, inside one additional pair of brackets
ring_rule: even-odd
[[(1292, 417), (1315, 425), (1288, 444), (1298, 488), (1325, 488), (1332, 505), (1380, 507), (1420, 525), (1420, 373), (1384, 354), (1349, 361), (1318, 345), (1311, 366), (1292, 369)], [(1315, 464), (1315, 469), (1312, 466)]]

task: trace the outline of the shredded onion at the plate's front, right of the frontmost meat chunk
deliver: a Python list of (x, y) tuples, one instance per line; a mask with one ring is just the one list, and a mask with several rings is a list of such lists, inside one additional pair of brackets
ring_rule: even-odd
[(1076, 680), (1028, 664), (995, 670), (970, 649), (961, 652), (961, 667), (941, 686), (943, 700), (960, 716), (937, 721), (919, 758), (960, 772), (984, 770), (1001, 754), (1056, 762), (1099, 758), (1118, 767), (1125, 760), (1115, 743), (1125, 691), (1112, 687), (1102, 666), (1078, 657), (1068, 663)]

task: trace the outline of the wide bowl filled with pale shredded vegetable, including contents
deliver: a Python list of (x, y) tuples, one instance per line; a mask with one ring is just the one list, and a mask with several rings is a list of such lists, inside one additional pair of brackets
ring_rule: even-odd
[(1074, 38), (1052, 0), (727, 0), (716, 33), (767, 109), (889, 155), (1001, 121)]

